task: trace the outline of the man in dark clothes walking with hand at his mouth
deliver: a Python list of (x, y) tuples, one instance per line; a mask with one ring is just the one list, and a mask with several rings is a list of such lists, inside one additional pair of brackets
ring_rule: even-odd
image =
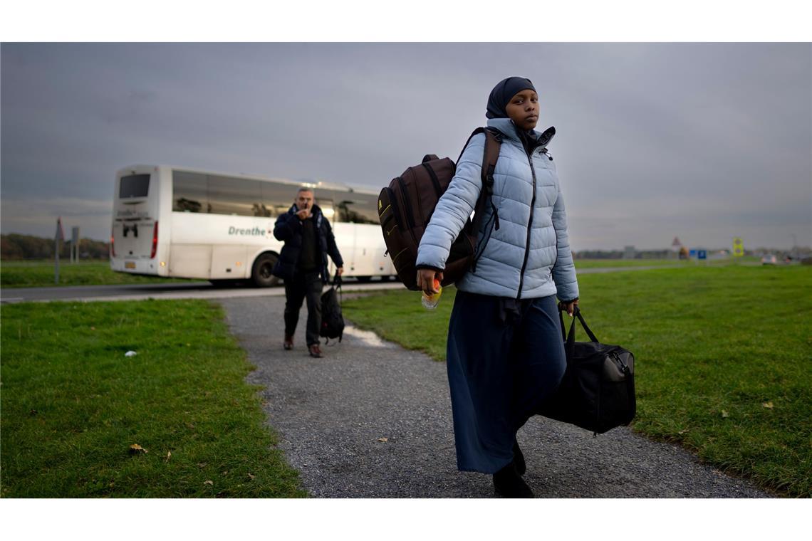
[(311, 357), (322, 357), (318, 346), (322, 327), (322, 286), (330, 280), (327, 255), (343, 273), (343, 260), (330, 222), (314, 202), (313, 190), (299, 188), (296, 202), (276, 219), (274, 237), (284, 246), (274, 265), (274, 276), (285, 281), (285, 341), (286, 350), (293, 349), (293, 333), (299, 321), (302, 301), (307, 299), (307, 346)]

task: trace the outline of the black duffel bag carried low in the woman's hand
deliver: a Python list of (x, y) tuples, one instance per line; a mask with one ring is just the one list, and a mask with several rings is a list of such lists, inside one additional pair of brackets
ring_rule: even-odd
[[(575, 307), (569, 335), (559, 311), (567, 370), (558, 388), (539, 414), (585, 428), (595, 434), (627, 425), (634, 419), (634, 355), (620, 346), (601, 344)], [(580, 320), (589, 342), (575, 341), (575, 320)]]

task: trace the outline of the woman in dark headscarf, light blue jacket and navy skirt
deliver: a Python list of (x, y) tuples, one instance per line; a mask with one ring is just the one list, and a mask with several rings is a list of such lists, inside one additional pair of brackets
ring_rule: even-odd
[[(493, 206), (480, 222), (476, 268), (456, 283), (448, 325), (457, 467), (493, 474), (505, 497), (533, 497), (516, 432), (564, 375), (558, 309), (572, 316), (578, 303), (564, 200), (546, 150), (555, 128), (535, 131), (538, 114), (529, 79), (508, 77), (490, 92), (487, 126), (502, 140)], [(421, 239), (417, 285), (428, 294), (477, 204), (484, 145), (484, 134), (470, 140)]]

